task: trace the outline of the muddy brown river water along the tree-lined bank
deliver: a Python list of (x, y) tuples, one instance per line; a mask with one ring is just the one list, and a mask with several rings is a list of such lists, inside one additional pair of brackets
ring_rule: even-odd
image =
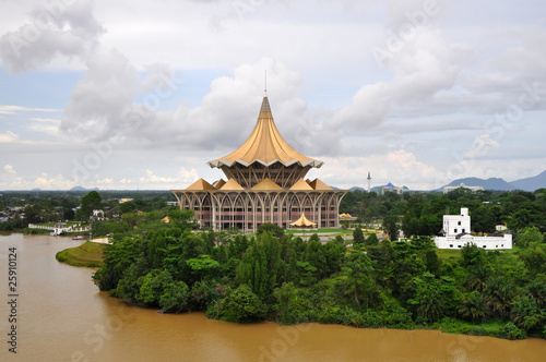
[[(91, 280), (94, 269), (56, 261), (58, 251), (80, 243), (0, 234), (0, 361), (546, 361), (544, 339), (320, 324), (239, 325), (202, 313), (128, 306), (98, 291)], [(17, 249), (14, 305), (8, 289), (10, 246)], [(10, 322), (13, 313), (16, 323)], [(9, 351), (13, 325), (16, 354)]]

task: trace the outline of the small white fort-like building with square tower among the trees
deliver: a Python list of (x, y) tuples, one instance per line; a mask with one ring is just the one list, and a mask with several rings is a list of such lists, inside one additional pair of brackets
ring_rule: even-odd
[(476, 244), (486, 250), (512, 249), (512, 234), (492, 233), (487, 237), (474, 237), (471, 233), (471, 216), (466, 207), (460, 215), (443, 215), (441, 237), (435, 238), (438, 249), (461, 249), (467, 243)]

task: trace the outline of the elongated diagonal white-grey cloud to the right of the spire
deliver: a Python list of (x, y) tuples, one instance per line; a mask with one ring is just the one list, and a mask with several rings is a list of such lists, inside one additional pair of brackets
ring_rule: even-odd
[(451, 44), (438, 28), (423, 27), (415, 39), (392, 55), (388, 65), (392, 80), (363, 86), (352, 104), (333, 116), (329, 129), (363, 132), (381, 123), (393, 107), (423, 104), (450, 89), (460, 70), (459, 59), (467, 51), (465, 46)]

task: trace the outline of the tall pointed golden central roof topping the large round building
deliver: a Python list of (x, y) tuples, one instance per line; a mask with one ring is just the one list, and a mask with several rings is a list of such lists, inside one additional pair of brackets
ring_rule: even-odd
[(211, 167), (221, 168), (222, 166), (230, 167), (234, 162), (244, 166), (249, 166), (253, 162), (270, 166), (277, 161), (285, 167), (296, 162), (317, 168), (322, 166), (322, 161), (301, 155), (284, 141), (273, 121), (268, 97), (264, 96), (258, 122), (247, 141), (229, 155), (209, 161), (207, 164)]

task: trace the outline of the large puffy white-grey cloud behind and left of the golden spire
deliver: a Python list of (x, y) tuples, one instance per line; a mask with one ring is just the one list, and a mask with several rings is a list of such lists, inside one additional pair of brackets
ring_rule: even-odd
[[(134, 67), (118, 51), (95, 57), (72, 90), (61, 130), (88, 140), (121, 137), (140, 146), (227, 149), (238, 146), (256, 123), (264, 70), (268, 85), (274, 89), (275, 118), (293, 122), (307, 107), (298, 97), (301, 76), (272, 58), (241, 64), (233, 77), (215, 79), (200, 106), (190, 108), (181, 102), (175, 111), (163, 108), (183, 84), (170, 79), (173, 72), (164, 65), (150, 70), (141, 82)], [(150, 92), (141, 104), (134, 104), (139, 89)]]

